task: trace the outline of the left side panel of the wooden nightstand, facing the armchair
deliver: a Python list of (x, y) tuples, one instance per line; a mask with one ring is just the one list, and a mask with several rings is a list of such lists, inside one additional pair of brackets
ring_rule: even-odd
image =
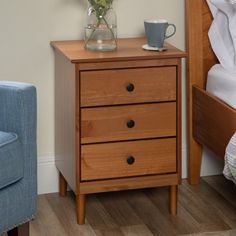
[(56, 166), (76, 191), (75, 66), (55, 52), (55, 156)]

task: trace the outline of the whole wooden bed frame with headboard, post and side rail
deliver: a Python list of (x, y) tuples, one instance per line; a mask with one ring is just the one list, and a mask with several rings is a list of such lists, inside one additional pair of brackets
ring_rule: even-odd
[(207, 72), (218, 63), (208, 39), (212, 15), (206, 0), (186, 0), (188, 178), (198, 184), (202, 146), (220, 158), (236, 132), (236, 110), (205, 91)]

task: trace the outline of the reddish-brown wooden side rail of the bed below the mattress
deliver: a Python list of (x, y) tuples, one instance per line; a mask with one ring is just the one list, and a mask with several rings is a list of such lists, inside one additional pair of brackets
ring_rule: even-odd
[(224, 159), (226, 146), (236, 131), (236, 110), (193, 87), (193, 136)]

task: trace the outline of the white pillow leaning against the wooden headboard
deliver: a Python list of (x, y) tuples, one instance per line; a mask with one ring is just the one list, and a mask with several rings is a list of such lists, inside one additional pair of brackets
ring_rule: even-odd
[(208, 0), (208, 5), (214, 17), (208, 33), (212, 49), (224, 68), (235, 69), (236, 12), (229, 0)]

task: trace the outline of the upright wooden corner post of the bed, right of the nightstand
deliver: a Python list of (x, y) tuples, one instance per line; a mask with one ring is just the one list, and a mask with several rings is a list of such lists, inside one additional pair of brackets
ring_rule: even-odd
[(202, 5), (205, 0), (186, 0), (187, 38), (187, 128), (188, 128), (188, 181), (198, 184), (202, 161), (202, 147), (193, 138), (192, 85), (203, 88), (203, 29)]

